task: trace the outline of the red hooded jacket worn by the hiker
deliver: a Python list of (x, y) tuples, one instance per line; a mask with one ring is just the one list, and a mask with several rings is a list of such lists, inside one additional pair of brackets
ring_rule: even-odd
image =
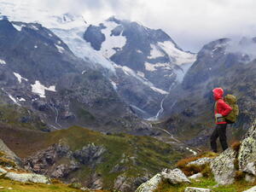
[[(212, 90), (213, 96), (215, 101), (217, 102), (216, 110), (214, 108), (214, 114), (220, 113), (222, 116), (227, 116), (231, 111), (232, 108), (224, 102), (223, 95), (224, 95), (224, 90), (221, 88), (216, 88)], [(216, 122), (216, 124), (226, 124), (227, 122), (225, 120), (221, 122)]]

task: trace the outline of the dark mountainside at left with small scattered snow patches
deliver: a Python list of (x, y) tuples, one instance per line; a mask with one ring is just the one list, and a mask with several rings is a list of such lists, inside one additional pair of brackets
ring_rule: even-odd
[(52, 129), (83, 125), (136, 133), (147, 127), (109, 80), (49, 29), (5, 19), (0, 29), (3, 101), (32, 110)]

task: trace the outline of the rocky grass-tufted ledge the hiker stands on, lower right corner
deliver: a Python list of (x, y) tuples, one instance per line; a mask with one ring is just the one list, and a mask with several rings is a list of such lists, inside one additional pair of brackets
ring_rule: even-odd
[(137, 192), (244, 191), (256, 187), (256, 121), (241, 143), (221, 154), (205, 153), (180, 160), (174, 170), (165, 169), (143, 183)]

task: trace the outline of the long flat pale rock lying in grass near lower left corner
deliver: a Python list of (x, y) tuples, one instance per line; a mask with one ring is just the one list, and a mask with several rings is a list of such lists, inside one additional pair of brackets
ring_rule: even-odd
[(19, 182), (32, 182), (32, 183), (49, 183), (49, 178), (44, 175), (38, 175), (34, 173), (15, 173), (8, 172), (4, 177), (8, 177), (11, 180), (19, 181)]

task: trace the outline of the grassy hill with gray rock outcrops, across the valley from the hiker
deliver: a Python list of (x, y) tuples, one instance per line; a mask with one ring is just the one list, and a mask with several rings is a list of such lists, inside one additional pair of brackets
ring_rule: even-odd
[(105, 135), (79, 126), (45, 133), (1, 125), (0, 138), (27, 170), (92, 189), (135, 190), (189, 154), (152, 137)]

